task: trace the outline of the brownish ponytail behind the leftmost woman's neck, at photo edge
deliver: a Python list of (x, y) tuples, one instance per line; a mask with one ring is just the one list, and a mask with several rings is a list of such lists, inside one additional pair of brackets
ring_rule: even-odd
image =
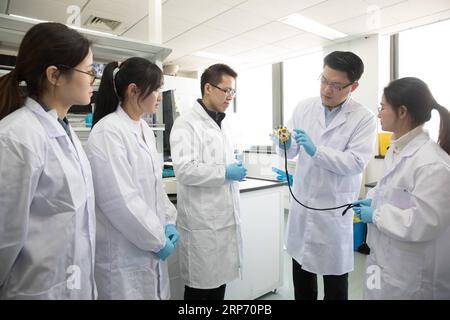
[(0, 78), (0, 120), (19, 109), (25, 102), (25, 97), (19, 87), (17, 71)]

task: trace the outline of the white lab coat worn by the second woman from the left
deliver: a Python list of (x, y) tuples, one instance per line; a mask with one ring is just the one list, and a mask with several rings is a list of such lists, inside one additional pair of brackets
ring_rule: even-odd
[(94, 126), (86, 152), (96, 190), (99, 299), (169, 299), (167, 261), (155, 252), (176, 209), (163, 189), (153, 131), (119, 106)]

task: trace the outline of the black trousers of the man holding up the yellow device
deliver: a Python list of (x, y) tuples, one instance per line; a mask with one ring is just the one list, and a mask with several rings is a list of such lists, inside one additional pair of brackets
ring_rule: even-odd
[[(295, 300), (317, 300), (317, 275), (292, 259)], [(324, 300), (348, 300), (348, 273), (323, 276)]]

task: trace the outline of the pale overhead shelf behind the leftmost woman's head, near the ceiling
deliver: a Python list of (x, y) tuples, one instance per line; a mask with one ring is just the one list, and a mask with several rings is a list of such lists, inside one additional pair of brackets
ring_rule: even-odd
[[(0, 14), (0, 48), (19, 48), (25, 33), (36, 22)], [(95, 31), (77, 30), (92, 41), (94, 60), (98, 62), (123, 61), (142, 57), (153, 62), (163, 61), (172, 49), (151, 43), (116, 36), (99, 35)]]

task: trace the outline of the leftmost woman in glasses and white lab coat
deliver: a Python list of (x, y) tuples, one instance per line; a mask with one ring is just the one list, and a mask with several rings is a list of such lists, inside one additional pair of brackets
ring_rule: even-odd
[(89, 41), (59, 23), (33, 26), (0, 78), (1, 299), (96, 297), (91, 168), (66, 119), (94, 80)]

